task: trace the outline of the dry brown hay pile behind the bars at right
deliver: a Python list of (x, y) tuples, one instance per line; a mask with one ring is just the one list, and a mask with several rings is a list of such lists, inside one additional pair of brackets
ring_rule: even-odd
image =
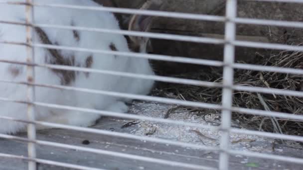
[[(270, 57), (259, 55), (254, 60), (254, 64), (303, 69), (303, 52), (283, 51), (278, 54), (272, 54)], [(190, 75), (190, 77), (188, 75)], [(178, 75), (174, 77), (220, 83), (222, 81), (222, 72), (218, 68), (210, 68), (207, 71), (204, 70), (199, 73)], [(303, 90), (303, 75), (235, 70), (234, 78), (235, 84), (238, 85), (272, 87), (297, 91)], [(164, 83), (159, 84), (158, 88), (162, 89), (158, 95), (163, 95), (165, 97), (170, 96), (183, 100), (206, 103), (221, 103), (221, 88)], [(234, 91), (233, 99), (233, 105), (237, 107), (303, 115), (303, 98), (300, 97)], [(190, 109), (201, 116), (204, 116), (205, 114), (220, 113), (218, 110), (184, 107), (182, 109)], [(240, 122), (245, 128), (303, 136), (303, 121), (246, 115), (242, 113), (233, 113), (233, 120)]]

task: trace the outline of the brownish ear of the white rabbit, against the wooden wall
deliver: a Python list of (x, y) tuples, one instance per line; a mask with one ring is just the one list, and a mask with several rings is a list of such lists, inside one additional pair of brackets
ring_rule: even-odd
[[(144, 10), (159, 10), (163, 7), (160, 0), (148, 0), (140, 9)], [(152, 20), (154, 16), (135, 14), (131, 17), (129, 22), (130, 31), (148, 32), (152, 27)], [(150, 44), (148, 37), (129, 36), (133, 46), (139, 47), (140, 52), (146, 52), (147, 46)]]

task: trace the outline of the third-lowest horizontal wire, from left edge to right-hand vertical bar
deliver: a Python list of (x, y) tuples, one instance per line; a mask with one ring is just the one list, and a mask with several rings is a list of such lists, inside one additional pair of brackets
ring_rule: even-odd
[(201, 149), (204, 151), (219, 151), (218, 148), (214, 148), (214, 147), (205, 147), (205, 146), (201, 146), (201, 145), (197, 145), (197, 144), (177, 142), (177, 141), (159, 139), (159, 138), (154, 138), (154, 137), (138, 136), (138, 135), (132, 135), (132, 134), (128, 134), (128, 133), (121, 133), (121, 132), (112, 132), (112, 131), (107, 131), (107, 130), (102, 130), (102, 129), (77, 127), (77, 126), (64, 125), (64, 124), (58, 124), (58, 123), (49, 123), (49, 122), (43, 122), (43, 121), (20, 120), (20, 119), (15, 119), (15, 118), (6, 117), (6, 116), (0, 116), (0, 119), (18, 121), (18, 122), (23, 122), (23, 123), (38, 124), (38, 125), (48, 126), (48, 127), (52, 127), (52, 128), (61, 128), (61, 129), (75, 130), (75, 131), (88, 132), (88, 133), (94, 133), (94, 134), (100, 134), (100, 135), (108, 135), (108, 136), (114, 136), (114, 137), (135, 139), (135, 140), (140, 140), (140, 141), (149, 141), (149, 142), (168, 144), (168, 145), (174, 145), (174, 146), (180, 146), (180, 147), (186, 147), (186, 148), (188, 147), (191, 149)]

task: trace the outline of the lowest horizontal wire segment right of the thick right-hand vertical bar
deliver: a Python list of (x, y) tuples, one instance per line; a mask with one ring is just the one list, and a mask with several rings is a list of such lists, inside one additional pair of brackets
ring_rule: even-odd
[(263, 154), (263, 153), (250, 152), (250, 151), (229, 150), (227, 152), (232, 155), (243, 155), (243, 156), (247, 156), (247, 157), (263, 158), (263, 159), (269, 159), (269, 160), (275, 160), (275, 161), (303, 164), (303, 159), (301, 159), (301, 158), (278, 156), (278, 155), (272, 155), (272, 154)]

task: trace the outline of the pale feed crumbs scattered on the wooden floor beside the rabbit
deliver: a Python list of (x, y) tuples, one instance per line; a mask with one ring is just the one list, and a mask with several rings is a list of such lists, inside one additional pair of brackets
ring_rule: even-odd
[[(172, 110), (174, 107), (177, 106), (157, 102), (134, 101), (130, 108), (130, 113), (155, 118), (164, 118), (167, 111)], [(203, 116), (197, 116), (194, 112), (182, 109), (176, 109), (175, 111), (171, 112), (167, 119), (212, 126), (218, 126), (220, 123), (216, 114), (208, 114), (204, 116), (203, 119)], [(213, 147), (219, 145), (220, 132), (210, 129), (186, 127), (182, 125), (172, 125), (168, 123), (157, 123), (151, 121), (140, 121), (140, 123), (134, 126), (136, 128), (131, 133), (136, 135), (148, 135), (161, 139)], [(233, 122), (232, 126), (237, 125), (235, 122)], [(251, 145), (252, 143), (260, 144), (260, 142), (266, 142), (268, 145)], [(272, 142), (274, 141), (254, 135), (231, 134), (231, 147), (237, 150), (270, 151), (270, 144)]]

